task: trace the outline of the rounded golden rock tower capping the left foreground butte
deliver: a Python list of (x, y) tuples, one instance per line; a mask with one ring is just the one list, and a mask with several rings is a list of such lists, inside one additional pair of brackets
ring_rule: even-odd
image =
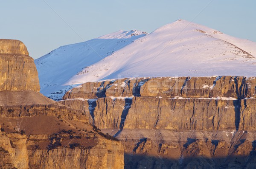
[(34, 90), (40, 85), (34, 59), (19, 40), (0, 39), (0, 90)]

